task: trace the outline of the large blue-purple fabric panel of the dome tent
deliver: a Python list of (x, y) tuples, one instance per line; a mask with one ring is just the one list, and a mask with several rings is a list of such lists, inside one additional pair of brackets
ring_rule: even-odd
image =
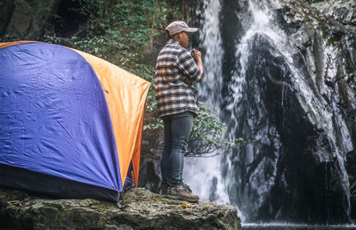
[(0, 49), (0, 164), (122, 191), (109, 108), (91, 65), (61, 45)]

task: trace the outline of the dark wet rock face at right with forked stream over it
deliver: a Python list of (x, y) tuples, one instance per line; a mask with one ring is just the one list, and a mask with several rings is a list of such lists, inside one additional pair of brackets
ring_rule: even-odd
[(247, 141), (224, 159), (231, 203), (247, 222), (351, 223), (356, 30), (337, 9), (354, 1), (324, 3), (330, 13), (302, 0), (228, 2), (241, 20), (229, 21), (235, 45), (222, 37), (236, 63), (223, 72), (221, 117)]

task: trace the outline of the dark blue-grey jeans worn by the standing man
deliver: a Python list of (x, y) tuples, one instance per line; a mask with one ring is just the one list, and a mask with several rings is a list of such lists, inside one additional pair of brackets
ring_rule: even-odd
[(184, 152), (193, 126), (194, 114), (190, 111), (162, 117), (165, 126), (164, 147), (161, 157), (163, 185), (179, 187), (182, 185)]

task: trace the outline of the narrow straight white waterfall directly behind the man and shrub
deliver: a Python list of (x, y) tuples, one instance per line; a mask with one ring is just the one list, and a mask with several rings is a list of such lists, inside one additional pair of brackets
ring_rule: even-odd
[[(199, 84), (199, 101), (214, 108), (219, 114), (222, 86), (223, 48), (219, 29), (220, 2), (216, 0), (203, 1), (198, 14), (202, 16), (199, 40), (205, 51), (203, 62), (205, 76)], [(229, 196), (224, 189), (221, 176), (222, 156), (208, 158), (189, 158), (185, 161), (184, 178), (200, 199), (229, 203)]]

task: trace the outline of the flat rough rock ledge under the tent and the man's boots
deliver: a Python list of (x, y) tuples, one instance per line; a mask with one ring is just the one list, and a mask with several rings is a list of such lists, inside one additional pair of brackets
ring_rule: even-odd
[(51, 199), (0, 188), (0, 228), (241, 229), (230, 205), (173, 201), (143, 188), (124, 197), (122, 210), (107, 201)]

